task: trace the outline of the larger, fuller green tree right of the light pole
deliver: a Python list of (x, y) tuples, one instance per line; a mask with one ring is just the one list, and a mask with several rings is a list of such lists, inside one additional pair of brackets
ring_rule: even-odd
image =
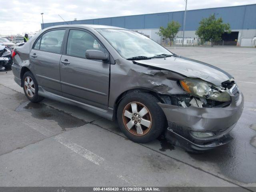
[(215, 14), (212, 14), (209, 18), (203, 18), (199, 24), (196, 35), (203, 41), (211, 41), (212, 46), (214, 42), (221, 40), (221, 35), (224, 32), (231, 32), (230, 24), (223, 23), (222, 18), (216, 19)]

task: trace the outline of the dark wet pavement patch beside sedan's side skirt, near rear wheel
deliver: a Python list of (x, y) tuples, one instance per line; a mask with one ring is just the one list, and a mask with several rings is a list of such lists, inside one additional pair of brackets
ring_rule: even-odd
[(58, 123), (62, 130), (77, 128), (85, 125), (87, 122), (67, 114), (61, 110), (52, 108), (43, 103), (23, 102), (15, 111), (30, 112), (32, 117), (43, 120), (53, 120)]

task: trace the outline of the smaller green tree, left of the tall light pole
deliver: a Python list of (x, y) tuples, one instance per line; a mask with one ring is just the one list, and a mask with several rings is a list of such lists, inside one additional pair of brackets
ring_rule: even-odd
[(159, 36), (164, 36), (164, 38), (170, 39), (170, 46), (172, 46), (172, 41), (175, 38), (176, 34), (179, 32), (180, 23), (176, 21), (169, 22), (167, 27), (160, 27), (158, 34)]

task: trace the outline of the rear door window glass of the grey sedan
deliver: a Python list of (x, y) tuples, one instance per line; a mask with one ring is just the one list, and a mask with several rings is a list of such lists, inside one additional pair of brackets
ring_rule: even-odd
[(60, 53), (65, 30), (49, 31), (42, 36), (40, 50)]

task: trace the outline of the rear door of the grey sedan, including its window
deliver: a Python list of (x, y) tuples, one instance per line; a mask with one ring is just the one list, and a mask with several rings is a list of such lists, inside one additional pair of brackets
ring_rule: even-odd
[(50, 30), (42, 34), (30, 52), (32, 72), (44, 90), (61, 95), (60, 58), (66, 29)]

